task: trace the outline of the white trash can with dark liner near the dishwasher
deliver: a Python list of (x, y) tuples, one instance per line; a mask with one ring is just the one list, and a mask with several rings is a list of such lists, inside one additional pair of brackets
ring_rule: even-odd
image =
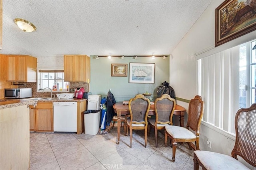
[(84, 111), (84, 133), (96, 135), (100, 127), (100, 110)]

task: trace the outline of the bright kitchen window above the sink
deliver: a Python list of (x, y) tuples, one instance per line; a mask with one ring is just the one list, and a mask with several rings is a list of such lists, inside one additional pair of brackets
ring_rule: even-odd
[(53, 91), (67, 91), (69, 82), (64, 81), (64, 70), (38, 70), (38, 90), (46, 87)]

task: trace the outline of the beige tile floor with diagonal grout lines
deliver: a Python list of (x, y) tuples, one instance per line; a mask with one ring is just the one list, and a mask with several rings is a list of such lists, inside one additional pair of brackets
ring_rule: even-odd
[(164, 147), (163, 132), (158, 132), (158, 148), (153, 129), (147, 148), (143, 130), (133, 131), (132, 148), (123, 129), (120, 145), (116, 135), (116, 127), (105, 135), (30, 133), (30, 170), (193, 170), (193, 150), (178, 144), (172, 162), (170, 141)]

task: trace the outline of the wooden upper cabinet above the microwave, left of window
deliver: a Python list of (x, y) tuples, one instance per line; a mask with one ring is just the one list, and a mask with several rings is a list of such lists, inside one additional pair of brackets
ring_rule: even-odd
[(6, 55), (7, 80), (13, 82), (36, 82), (37, 58), (28, 55)]

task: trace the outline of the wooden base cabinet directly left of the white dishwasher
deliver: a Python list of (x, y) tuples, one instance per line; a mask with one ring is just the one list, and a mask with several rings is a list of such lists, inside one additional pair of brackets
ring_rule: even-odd
[(36, 131), (53, 132), (52, 102), (38, 102), (35, 110), (36, 110)]

